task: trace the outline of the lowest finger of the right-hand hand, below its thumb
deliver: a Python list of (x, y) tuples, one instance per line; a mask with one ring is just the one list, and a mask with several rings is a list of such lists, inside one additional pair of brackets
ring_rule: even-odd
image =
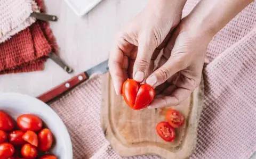
[[(170, 86), (170, 89), (174, 90), (174, 86)], [(151, 108), (159, 108), (164, 106), (175, 106), (183, 102), (191, 94), (191, 90), (186, 88), (178, 88), (173, 91), (169, 96), (159, 96), (148, 106)]]

